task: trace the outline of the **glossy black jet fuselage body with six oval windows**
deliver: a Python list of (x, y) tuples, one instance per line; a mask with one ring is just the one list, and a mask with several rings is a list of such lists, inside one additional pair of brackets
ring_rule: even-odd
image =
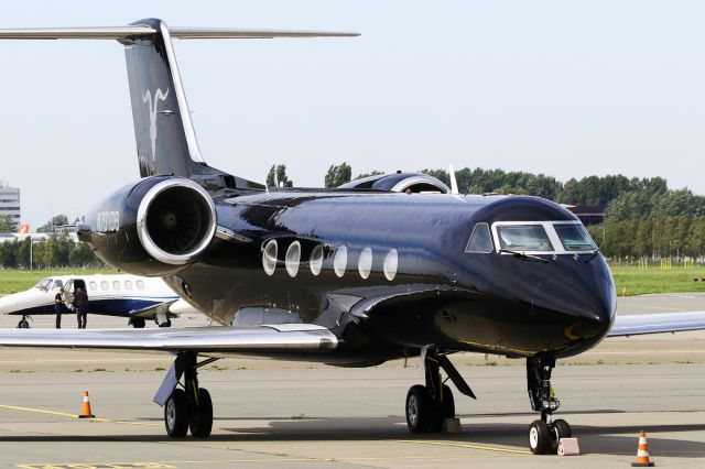
[[(216, 196), (215, 205), (218, 226), (234, 237), (215, 238), (167, 283), (225, 325), (327, 327), (341, 345), (325, 361), (375, 363), (417, 355), (423, 346), (564, 357), (598, 343), (614, 319), (614, 283), (601, 255), (540, 262), (465, 252), (476, 222), (576, 220), (544, 199), (292, 190)], [(272, 240), (270, 275), (263, 251)], [(288, 270), (285, 259), (296, 241), (292, 275), (294, 263)], [(316, 247), (323, 249), (318, 274), (310, 262)], [(336, 273), (343, 247), (347, 259), (338, 259)], [(384, 260), (391, 251), (390, 280)]]

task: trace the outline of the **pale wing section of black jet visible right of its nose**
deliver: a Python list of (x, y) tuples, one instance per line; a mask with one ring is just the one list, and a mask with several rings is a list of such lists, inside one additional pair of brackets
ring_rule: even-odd
[(705, 312), (617, 315), (608, 337), (705, 329)]

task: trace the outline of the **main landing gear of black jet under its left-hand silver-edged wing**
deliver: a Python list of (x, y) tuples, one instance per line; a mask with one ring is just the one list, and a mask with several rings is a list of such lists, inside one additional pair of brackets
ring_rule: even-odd
[[(172, 438), (191, 435), (205, 438), (213, 428), (213, 401), (204, 388), (198, 388), (197, 369), (216, 361), (209, 358), (197, 361), (195, 352), (180, 352), (169, 370), (154, 402), (164, 406), (164, 426)], [(183, 384), (180, 382), (183, 375)], [(180, 388), (181, 386), (181, 388)]]

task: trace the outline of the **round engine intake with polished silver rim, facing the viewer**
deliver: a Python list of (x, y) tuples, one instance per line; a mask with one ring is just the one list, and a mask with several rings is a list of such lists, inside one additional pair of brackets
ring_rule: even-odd
[(216, 210), (208, 193), (184, 178), (170, 178), (150, 188), (139, 205), (137, 233), (144, 250), (172, 265), (192, 262), (210, 243)]

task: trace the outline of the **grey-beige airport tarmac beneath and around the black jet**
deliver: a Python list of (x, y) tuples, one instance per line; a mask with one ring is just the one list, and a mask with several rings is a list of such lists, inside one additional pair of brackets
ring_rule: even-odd
[[(649, 295), (620, 298), (619, 305), (623, 314), (684, 309), (705, 310), (705, 295)], [(74, 327), (70, 319), (65, 327)], [(52, 321), (35, 318), (33, 325)], [(0, 318), (2, 327), (15, 323)], [(89, 317), (89, 327), (124, 323)], [(184, 324), (206, 321), (174, 321)], [(527, 428), (535, 415), (522, 361), (469, 355), (454, 361), (478, 395), (473, 401), (455, 393), (464, 429), (458, 435), (406, 430), (403, 402), (421, 381), (417, 360), (406, 368), (395, 361), (337, 369), (237, 359), (200, 373), (214, 397), (213, 437), (172, 440), (164, 436), (162, 408), (151, 402), (169, 357), (4, 348), (0, 466), (622, 468), (634, 459), (644, 428), (658, 467), (705, 468), (705, 332), (607, 339), (595, 351), (562, 360), (553, 384), (560, 415), (579, 438), (584, 455), (577, 457), (528, 452)], [(76, 418), (86, 390), (96, 419)]]

